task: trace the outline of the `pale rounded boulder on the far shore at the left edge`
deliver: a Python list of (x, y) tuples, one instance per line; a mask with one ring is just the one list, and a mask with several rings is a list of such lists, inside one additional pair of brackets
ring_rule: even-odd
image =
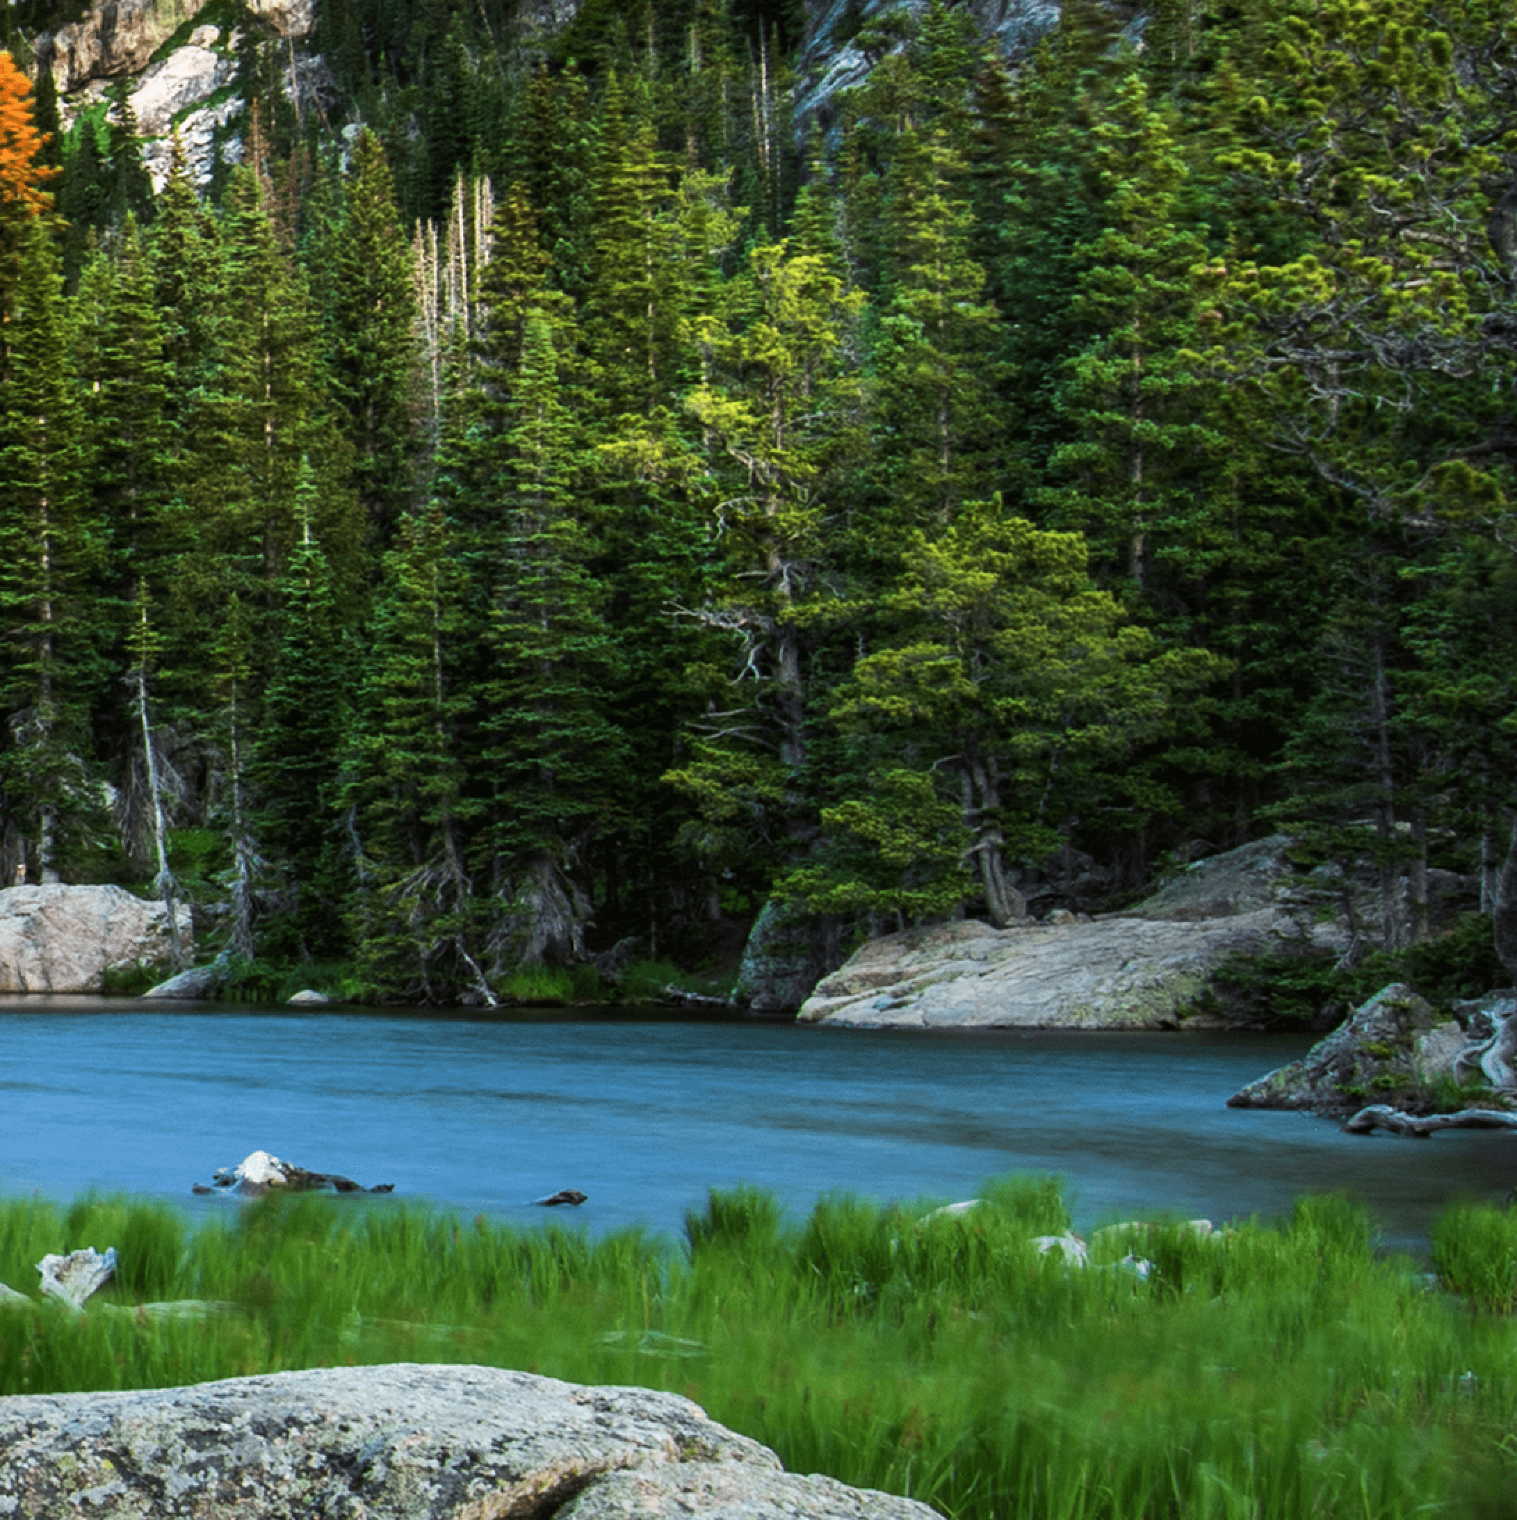
[[(179, 909), (188, 950), (190, 912)], [(0, 889), (0, 993), (99, 993), (106, 971), (172, 962), (163, 903), (120, 886)]]

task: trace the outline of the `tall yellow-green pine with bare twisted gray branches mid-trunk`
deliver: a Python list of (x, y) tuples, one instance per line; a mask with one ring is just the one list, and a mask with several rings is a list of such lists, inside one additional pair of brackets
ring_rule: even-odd
[(708, 678), (710, 713), (669, 780), (701, 815), (692, 841), (731, 847), (739, 810), (762, 819), (771, 859), (784, 860), (816, 830), (806, 772), (810, 655), (830, 590), (824, 492), (856, 438), (859, 383), (844, 359), (863, 295), (847, 293), (822, 255), (783, 243), (755, 248), (728, 295), (727, 310), (698, 325), (710, 378), (689, 406), (713, 448), (707, 489), (724, 559), (698, 616), (733, 637), (736, 673)]

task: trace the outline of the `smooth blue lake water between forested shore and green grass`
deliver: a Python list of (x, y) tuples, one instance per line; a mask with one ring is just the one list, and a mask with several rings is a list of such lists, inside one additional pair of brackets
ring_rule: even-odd
[(739, 1181), (803, 1213), (833, 1189), (949, 1199), (1053, 1172), (1079, 1227), (1271, 1216), (1347, 1189), (1388, 1243), (1417, 1246), (1453, 1196), (1517, 1183), (1508, 1134), (1367, 1138), (1224, 1107), (1309, 1043), (9, 997), (0, 1193), (226, 1208), (192, 1186), (261, 1148), (520, 1222), (544, 1218), (529, 1199), (578, 1187), (576, 1222), (672, 1234), (707, 1189)]

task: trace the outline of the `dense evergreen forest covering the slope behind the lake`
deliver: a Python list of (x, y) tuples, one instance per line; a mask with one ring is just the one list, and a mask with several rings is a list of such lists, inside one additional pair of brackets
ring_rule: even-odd
[(853, 8), (806, 120), (795, 3), (322, 0), (325, 108), (220, 11), (208, 188), (0, 56), (0, 880), (423, 1003), (1281, 830), (1385, 948), (1494, 889), (1503, 0)]

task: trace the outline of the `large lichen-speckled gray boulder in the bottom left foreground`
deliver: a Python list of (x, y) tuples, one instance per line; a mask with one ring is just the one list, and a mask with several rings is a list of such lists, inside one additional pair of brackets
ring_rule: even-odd
[(0, 1398), (0, 1515), (932, 1520), (784, 1473), (675, 1394), (488, 1366), (339, 1366)]

